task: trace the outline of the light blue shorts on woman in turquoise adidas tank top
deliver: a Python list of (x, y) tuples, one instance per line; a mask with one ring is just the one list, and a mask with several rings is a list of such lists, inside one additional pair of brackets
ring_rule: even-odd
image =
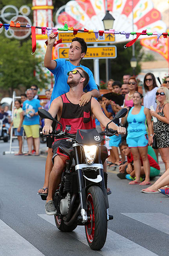
[(136, 138), (126, 138), (129, 148), (146, 147), (148, 145), (147, 134), (143, 134)]

